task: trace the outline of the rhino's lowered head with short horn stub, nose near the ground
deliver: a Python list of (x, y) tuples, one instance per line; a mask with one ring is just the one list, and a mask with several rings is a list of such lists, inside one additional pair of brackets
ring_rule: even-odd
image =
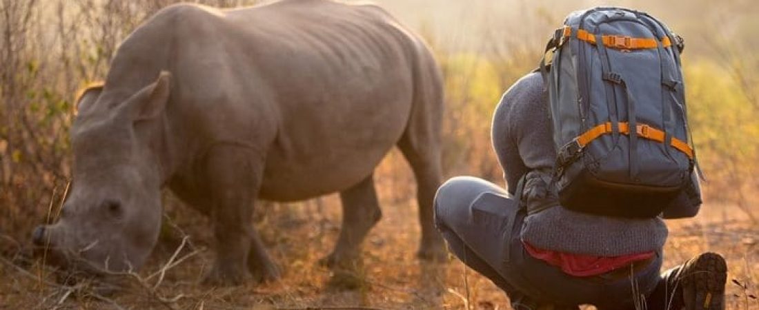
[(150, 255), (162, 216), (157, 149), (170, 81), (161, 72), (131, 94), (106, 85), (78, 99), (71, 191), (58, 221), (32, 233), (50, 264), (104, 274), (136, 270)]

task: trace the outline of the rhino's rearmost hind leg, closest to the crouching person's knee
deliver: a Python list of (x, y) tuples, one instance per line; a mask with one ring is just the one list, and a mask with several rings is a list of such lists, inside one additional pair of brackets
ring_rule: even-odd
[[(398, 148), (411, 165), (417, 180), (419, 224), (422, 230), (417, 256), (430, 261), (445, 261), (448, 257), (445, 243), (433, 223), (433, 200), (442, 183), (440, 152), (437, 147), (439, 144), (434, 139), (411, 139), (410, 135), (413, 133), (405, 133), (398, 142)], [(420, 136), (424, 138), (426, 135)]]

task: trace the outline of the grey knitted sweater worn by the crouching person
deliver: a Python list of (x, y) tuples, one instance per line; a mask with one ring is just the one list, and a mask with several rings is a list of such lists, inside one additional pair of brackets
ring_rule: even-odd
[[(493, 117), (493, 147), (509, 193), (528, 171), (550, 170), (556, 160), (547, 94), (540, 74), (518, 80)], [(667, 228), (660, 218), (608, 218), (554, 207), (525, 218), (521, 239), (539, 249), (618, 256), (660, 250)]]

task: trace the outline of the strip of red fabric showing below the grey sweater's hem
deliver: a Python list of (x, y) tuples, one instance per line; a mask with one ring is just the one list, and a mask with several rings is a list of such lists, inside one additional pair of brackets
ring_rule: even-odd
[(652, 258), (654, 253), (640, 253), (614, 257), (592, 256), (555, 252), (537, 249), (529, 243), (524, 243), (524, 249), (534, 258), (546, 261), (549, 265), (562, 268), (565, 274), (575, 277), (592, 277), (617, 268), (627, 267), (635, 261)]

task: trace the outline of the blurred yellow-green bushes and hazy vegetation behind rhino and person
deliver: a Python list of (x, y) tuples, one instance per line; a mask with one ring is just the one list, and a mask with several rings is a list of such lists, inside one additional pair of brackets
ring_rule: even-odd
[[(65, 195), (68, 127), (77, 91), (101, 80), (118, 44), (174, 0), (0, 0), (0, 236), (26, 240)], [(217, 7), (253, 0), (202, 0)], [(446, 175), (502, 183), (490, 147), (493, 108), (536, 67), (562, 18), (597, 1), (376, 0), (421, 33), (446, 77)], [(752, 0), (609, 0), (648, 11), (686, 39), (688, 108), (710, 208), (751, 208), (759, 168), (759, 9)], [(380, 193), (408, 199), (413, 177), (397, 152), (377, 174)], [(0, 238), (2, 239), (2, 238)], [(6, 240), (8, 241), (8, 240)], [(0, 254), (15, 243), (0, 241)]]

